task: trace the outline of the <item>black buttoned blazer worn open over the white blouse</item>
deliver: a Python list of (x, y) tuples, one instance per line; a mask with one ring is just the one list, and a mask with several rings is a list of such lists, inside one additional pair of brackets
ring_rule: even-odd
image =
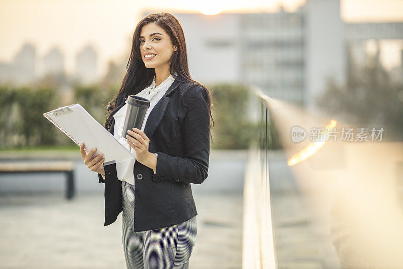
[[(182, 97), (182, 100), (180, 99)], [(151, 111), (144, 129), (149, 151), (158, 153), (154, 171), (135, 162), (135, 232), (168, 227), (197, 215), (190, 183), (207, 178), (210, 156), (208, 95), (199, 84), (175, 80)], [(123, 106), (121, 104), (118, 109)], [(113, 119), (109, 132), (113, 134)], [(105, 165), (105, 224), (122, 211), (122, 181), (116, 164)]]

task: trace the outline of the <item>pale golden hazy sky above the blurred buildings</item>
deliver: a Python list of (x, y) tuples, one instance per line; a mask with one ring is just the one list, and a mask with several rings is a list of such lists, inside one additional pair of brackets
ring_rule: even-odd
[[(133, 30), (145, 10), (274, 12), (280, 3), (285, 10), (295, 11), (305, 0), (0, 0), (0, 61), (9, 62), (22, 43), (29, 41), (36, 46), (38, 57), (53, 46), (59, 47), (65, 68), (72, 72), (76, 53), (92, 44), (98, 53), (99, 71), (104, 73), (108, 59), (128, 55)], [(403, 22), (402, 11), (403, 0), (341, 0), (346, 22)]]

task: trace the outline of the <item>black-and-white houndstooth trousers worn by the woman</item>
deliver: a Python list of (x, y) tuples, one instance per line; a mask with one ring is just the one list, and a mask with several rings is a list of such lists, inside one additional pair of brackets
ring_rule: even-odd
[(196, 216), (169, 227), (134, 232), (135, 186), (122, 181), (122, 243), (127, 269), (187, 269), (196, 242)]

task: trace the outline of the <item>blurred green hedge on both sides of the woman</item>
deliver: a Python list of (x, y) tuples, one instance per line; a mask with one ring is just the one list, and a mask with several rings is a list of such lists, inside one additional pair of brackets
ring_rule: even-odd
[[(247, 116), (249, 91), (245, 86), (215, 84), (213, 93), (212, 148), (247, 148), (256, 137), (257, 124)], [(77, 86), (73, 101), (80, 103), (101, 125), (107, 116), (107, 103), (118, 86)], [(0, 86), (0, 148), (44, 145), (75, 146), (75, 143), (51, 124), (43, 113), (62, 106), (54, 87)]]

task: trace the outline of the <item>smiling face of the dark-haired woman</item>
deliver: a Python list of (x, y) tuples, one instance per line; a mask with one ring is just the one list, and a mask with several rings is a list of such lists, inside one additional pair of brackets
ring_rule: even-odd
[(169, 69), (169, 60), (177, 47), (171, 43), (171, 38), (161, 27), (155, 23), (144, 25), (139, 40), (140, 53), (147, 68)]

